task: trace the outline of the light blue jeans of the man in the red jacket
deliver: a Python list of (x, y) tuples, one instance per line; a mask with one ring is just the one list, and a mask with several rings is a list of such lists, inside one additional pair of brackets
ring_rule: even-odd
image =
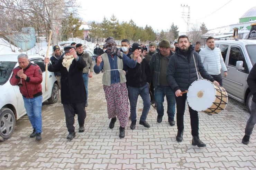
[(42, 133), (42, 101), (43, 96), (38, 96), (32, 99), (23, 97), (24, 106), (32, 124), (32, 127), (36, 129), (36, 132)]

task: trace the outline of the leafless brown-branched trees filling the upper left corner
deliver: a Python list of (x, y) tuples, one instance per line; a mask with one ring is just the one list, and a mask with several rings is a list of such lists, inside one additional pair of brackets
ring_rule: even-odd
[(0, 0), (0, 37), (24, 42), (18, 36), (24, 33), (22, 28), (33, 27), (38, 36), (52, 30), (52, 43), (56, 45), (65, 32), (63, 20), (76, 13), (78, 6), (74, 4), (76, 0)]

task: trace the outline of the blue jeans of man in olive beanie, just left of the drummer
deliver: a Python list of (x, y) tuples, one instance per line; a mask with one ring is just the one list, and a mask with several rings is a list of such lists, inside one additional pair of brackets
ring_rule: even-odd
[(155, 89), (155, 101), (157, 104), (156, 111), (158, 116), (164, 116), (164, 97), (167, 100), (167, 115), (170, 118), (174, 118), (175, 115), (175, 93), (170, 86), (157, 86)]

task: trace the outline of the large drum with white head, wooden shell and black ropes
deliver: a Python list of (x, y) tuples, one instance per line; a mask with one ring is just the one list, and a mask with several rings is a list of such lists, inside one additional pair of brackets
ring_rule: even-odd
[(190, 85), (187, 101), (195, 111), (218, 114), (227, 106), (228, 93), (218, 84), (199, 79)]

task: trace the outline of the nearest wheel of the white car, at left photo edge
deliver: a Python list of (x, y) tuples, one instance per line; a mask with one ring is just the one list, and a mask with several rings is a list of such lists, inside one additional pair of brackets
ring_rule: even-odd
[(0, 141), (8, 139), (15, 128), (16, 119), (9, 108), (0, 109)]

